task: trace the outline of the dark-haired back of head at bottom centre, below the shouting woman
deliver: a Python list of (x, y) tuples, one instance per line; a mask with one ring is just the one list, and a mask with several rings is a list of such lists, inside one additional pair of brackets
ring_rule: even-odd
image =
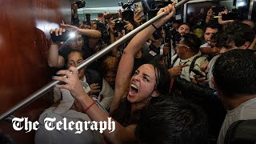
[(182, 99), (166, 98), (142, 110), (135, 130), (142, 143), (207, 143), (206, 114)]

